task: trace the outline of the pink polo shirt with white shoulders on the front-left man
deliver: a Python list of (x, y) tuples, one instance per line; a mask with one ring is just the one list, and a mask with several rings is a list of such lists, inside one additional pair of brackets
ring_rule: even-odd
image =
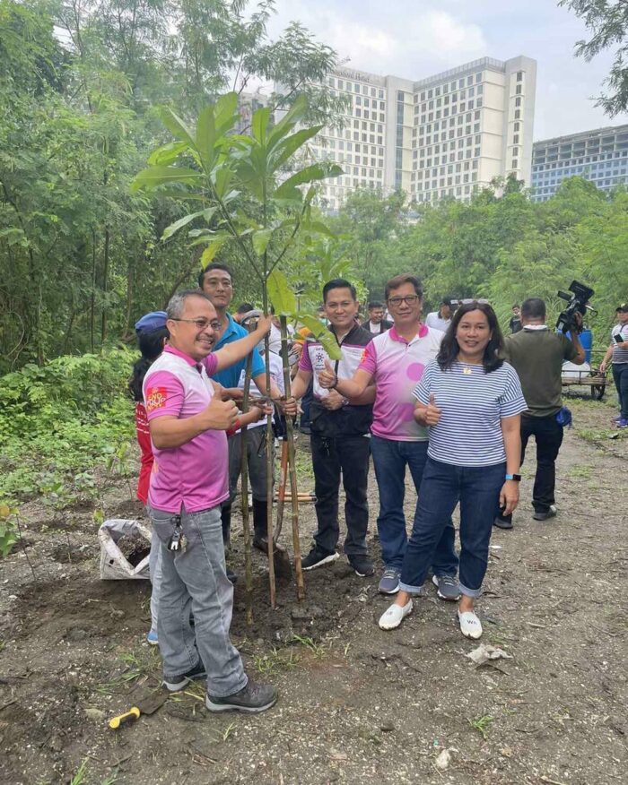
[[(167, 346), (144, 377), (144, 403), (149, 423), (169, 415), (185, 419), (206, 409), (214, 395), (209, 375), (215, 355), (197, 363)], [(186, 444), (158, 450), (153, 444), (153, 472), (148, 503), (157, 510), (188, 513), (208, 510), (229, 496), (228, 448), (224, 431), (205, 431)]]

